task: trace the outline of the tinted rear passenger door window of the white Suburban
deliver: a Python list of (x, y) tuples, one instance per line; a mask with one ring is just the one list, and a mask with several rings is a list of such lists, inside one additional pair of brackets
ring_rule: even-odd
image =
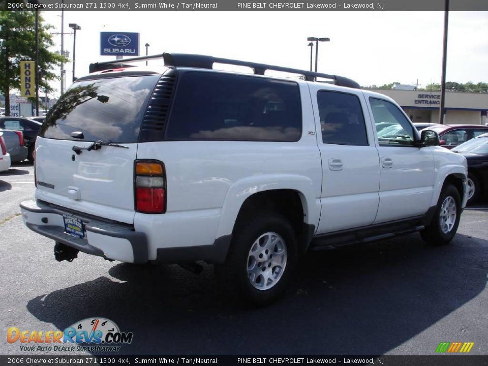
[(320, 90), (317, 93), (322, 141), (337, 145), (368, 145), (357, 96)]

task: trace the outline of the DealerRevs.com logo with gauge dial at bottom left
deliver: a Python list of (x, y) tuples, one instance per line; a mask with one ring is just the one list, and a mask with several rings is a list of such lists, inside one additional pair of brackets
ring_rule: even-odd
[(118, 352), (119, 345), (130, 344), (133, 337), (134, 333), (121, 332), (117, 324), (105, 318), (83, 319), (64, 331), (30, 331), (17, 327), (7, 331), (7, 342), (20, 343), (20, 351)]

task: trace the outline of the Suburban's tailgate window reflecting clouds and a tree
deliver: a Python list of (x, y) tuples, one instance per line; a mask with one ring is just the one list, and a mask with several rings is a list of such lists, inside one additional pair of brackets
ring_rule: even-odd
[(86, 141), (137, 142), (141, 121), (160, 75), (85, 80), (74, 83), (46, 116), (40, 136)]

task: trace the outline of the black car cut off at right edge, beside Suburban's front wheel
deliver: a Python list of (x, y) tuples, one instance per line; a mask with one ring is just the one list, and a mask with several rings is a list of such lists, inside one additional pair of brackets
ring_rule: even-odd
[(488, 133), (479, 135), (452, 149), (468, 161), (468, 203), (488, 192)]

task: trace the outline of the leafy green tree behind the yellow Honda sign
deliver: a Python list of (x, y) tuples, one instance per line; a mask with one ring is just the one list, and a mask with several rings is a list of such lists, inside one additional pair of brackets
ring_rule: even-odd
[[(17, 0), (15, 3), (22, 3)], [(5, 9), (5, 8), (4, 8)], [(25, 4), (24, 8), (25, 9)], [(50, 52), (54, 45), (49, 24), (39, 16), (39, 89), (52, 92), (50, 80), (58, 79), (52, 72), (64, 56)], [(5, 96), (5, 115), (10, 115), (10, 89), (20, 88), (20, 62), (36, 59), (36, 11), (0, 11), (0, 90)], [(35, 98), (34, 98), (35, 101)]]

